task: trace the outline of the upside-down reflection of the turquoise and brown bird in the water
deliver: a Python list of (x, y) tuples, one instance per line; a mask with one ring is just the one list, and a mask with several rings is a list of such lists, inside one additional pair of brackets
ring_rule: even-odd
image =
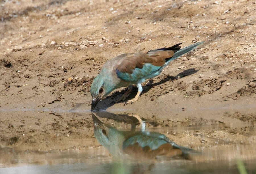
[(177, 145), (164, 134), (150, 131), (122, 131), (101, 122), (93, 113), (94, 136), (115, 157), (154, 159), (157, 156), (189, 158), (198, 151)]

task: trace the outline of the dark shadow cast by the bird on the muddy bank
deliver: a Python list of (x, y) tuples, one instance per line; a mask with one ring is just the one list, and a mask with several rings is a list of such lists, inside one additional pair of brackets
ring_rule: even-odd
[[(158, 86), (158, 85), (160, 85), (164, 82), (167, 82), (169, 80), (178, 79), (178, 77), (183, 78), (185, 76), (192, 75), (194, 73), (197, 73), (197, 71), (199, 71), (199, 70), (196, 70), (195, 68), (190, 68), (190, 69), (186, 69), (186, 70), (180, 72), (176, 76), (164, 75), (164, 78), (162, 78), (159, 82), (149, 83), (147, 85), (142, 86), (143, 91), (142, 91), (141, 95), (148, 92), (154, 86)], [(113, 106), (116, 103), (115, 100), (119, 99), (119, 97), (121, 97), (126, 92), (126, 90), (127, 90), (127, 88), (124, 88), (121, 91), (115, 91), (110, 96), (107, 96), (106, 98), (102, 99), (96, 106), (95, 111), (106, 110), (109, 107)], [(137, 88), (133, 88), (131, 94), (125, 99), (125, 101), (134, 98), (135, 95), (137, 94), (137, 91), (138, 91)], [(125, 103), (125, 101), (119, 101), (117, 103)]]

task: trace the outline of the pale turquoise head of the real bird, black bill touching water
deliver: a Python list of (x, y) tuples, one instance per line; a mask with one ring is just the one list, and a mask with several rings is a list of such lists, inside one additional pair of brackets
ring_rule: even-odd
[(115, 84), (112, 78), (105, 73), (100, 73), (92, 82), (91, 95), (92, 95), (92, 107), (91, 111), (96, 107), (97, 103), (110, 92), (115, 89)]

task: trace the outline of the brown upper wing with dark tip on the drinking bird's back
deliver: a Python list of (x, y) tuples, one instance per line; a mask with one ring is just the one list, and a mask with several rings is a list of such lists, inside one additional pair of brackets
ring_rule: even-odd
[(145, 63), (150, 63), (154, 66), (160, 67), (166, 63), (166, 59), (171, 58), (179, 49), (180, 46), (177, 44), (169, 48), (150, 50), (147, 53), (138, 52), (123, 54), (120, 55), (123, 56), (123, 58), (117, 69), (122, 73), (132, 74), (135, 68), (142, 69)]

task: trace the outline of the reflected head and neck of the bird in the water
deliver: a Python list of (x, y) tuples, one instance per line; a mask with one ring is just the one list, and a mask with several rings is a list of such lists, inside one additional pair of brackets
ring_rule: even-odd
[(108, 124), (102, 123), (93, 113), (92, 120), (94, 122), (94, 136), (98, 142), (106, 147), (111, 154), (119, 154), (124, 141), (123, 133)]

